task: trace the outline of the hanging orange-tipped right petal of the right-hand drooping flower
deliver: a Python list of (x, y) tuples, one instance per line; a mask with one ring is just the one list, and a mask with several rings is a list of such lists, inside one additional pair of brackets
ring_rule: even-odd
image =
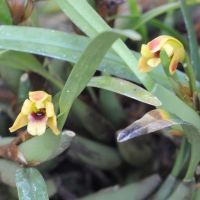
[(179, 62), (182, 62), (185, 58), (185, 50), (183, 48), (179, 48), (174, 52), (172, 60), (169, 66), (169, 73), (173, 75), (176, 71)]

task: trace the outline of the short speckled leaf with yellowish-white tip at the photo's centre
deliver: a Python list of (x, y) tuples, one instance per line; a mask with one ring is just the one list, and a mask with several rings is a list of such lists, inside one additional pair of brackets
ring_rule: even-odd
[(150, 105), (160, 106), (162, 104), (147, 90), (122, 79), (107, 76), (93, 77), (87, 85), (116, 92)]

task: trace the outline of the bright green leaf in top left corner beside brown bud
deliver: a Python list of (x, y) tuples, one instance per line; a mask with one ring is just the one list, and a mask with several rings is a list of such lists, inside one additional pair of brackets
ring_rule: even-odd
[(12, 25), (12, 17), (5, 0), (0, 0), (0, 22)]

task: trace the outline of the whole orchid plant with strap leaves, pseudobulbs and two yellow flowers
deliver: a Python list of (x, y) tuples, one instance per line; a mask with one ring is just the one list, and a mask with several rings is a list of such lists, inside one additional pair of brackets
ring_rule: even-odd
[[(121, 3), (123, 1), (93, 0), (45, 3), (46, 8), (62, 10), (76, 29), (89, 36), (85, 37), (38, 28), (38, 13), (34, 9), (37, 1), (0, 0), (0, 22), (5, 24), (0, 26), (0, 77), (15, 93), (9, 105), (0, 103), (0, 107), (13, 120), (9, 131), (16, 136), (7, 137), (6, 133), (0, 139), (0, 174), (3, 183), (17, 186), (19, 199), (46, 200), (59, 193), (53, 179), (48, 184), (31, 166), (50, 169), (53, 163), (59, 165), (62, 159), (58, 158), (71, 144), (70, 151), (79, 162), (98, 170), (115, 170), (120, 174), (116, 179), (129, 178), (120, 172), (123, 163), (138, 167), (142, 174), (153, 159), (153, 150), (137, 136), (147, 136), (157, 130), (164, 132), (165, 128), (168, 128), (165, 133), (168, 138), (175, 140), (178, 136), (182, 142), (180, 149), (177, 148), (174, 166), (162, 184), (161, 177), (154, 174), (117, 191), (79, 199), (200, 198), (196, 173), (200, 161), (200, 58), (188, 12), (188, 6), (198, 5), (199, 1), (170, 1), (141, 14), (136, 1), (127, 0), (131, 15), (126, 19), (131, 25), (125, 30), (112, 29), (105, 22), (108, 19), (103, 20), (95, 7), (97, 11), (109, 10)], [(184, 15), (189, 43), (165, 23), (154, 19), (177, 8), (181, 8)], [(112, 19), (120, 17), (112, 16)], [(148, 41), (147, 22), (157, 24), (167, 33)], [(140, 53), (128, 49), (120, 38), (139, 41)], [(67, 71), (62, 66), (64, 61), (70, 64)], [(177, 69), (180, 64), (184, 72)], [(97, 70), (101, 75), (96, 76)], [(99, 98), (94, 88), (98, 88)], [(84, 101), (83, 90), (94, 106)], [(115, 93), (157, 109), (125, 127), (121, 124), (123, 121), (127, 124), (127, 115)], [(11, 105), (14, 105), (12, 109)], [(67, 119), (70, 123), (66, 123)], [(71, 130), (65, 130), (69, 124), (76, 127), (76, 136)], [(121, 128), (123, 130), (117, 131)], [(86, 134), (79, 134), (80, 130), (85, 130)], [(153, 173), (154, 170), (150, 171)], [(181, 173), (184, 174), (182, 177)], [(4, 177), (5, 174), (9, 179)], [(183, 180), (180, 181), (180, 177)]]

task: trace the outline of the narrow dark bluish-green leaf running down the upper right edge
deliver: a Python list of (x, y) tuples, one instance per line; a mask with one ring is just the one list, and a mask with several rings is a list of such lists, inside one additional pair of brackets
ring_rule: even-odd
[(189, 43), (190, 43), (192, 67), (194, 70), (195, 78), (196, 80), (199, 81), (200, 80), (200, 57), (199, 57), (196, 34), (194, 31), (192, 19), (188, 11), (188, 7), (185, 0), (179, 0), (179, 2), (181, 5), (181, 11), (183, 13), (183, 17), (184, 17), (185, 24), (187, 27), (187, 33), (188, 33), (188, 38), (189, 38)]

